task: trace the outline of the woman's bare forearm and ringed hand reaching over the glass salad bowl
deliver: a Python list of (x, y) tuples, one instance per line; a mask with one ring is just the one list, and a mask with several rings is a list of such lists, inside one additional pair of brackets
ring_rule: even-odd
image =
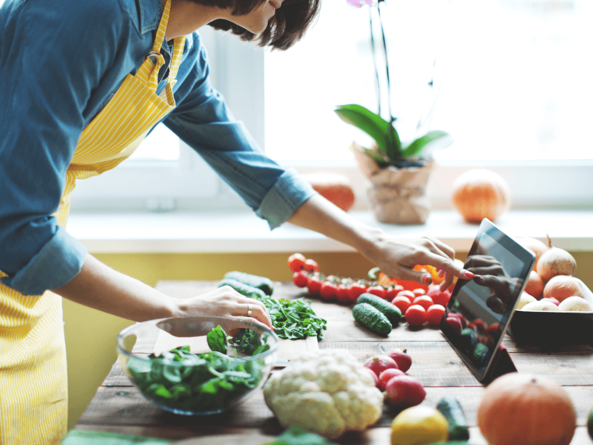
[(263, 303), (244, 297), (229, 286), (189, 299), (175, 299), (111, 269), (92, 255), (87, 255), (78, 275), (53, 292), (81, 305), (133, 321), (172, 316), (224, 316), (229, 318), (227, 326), (223, 326), (227, 332), (241, 327), (241, 322), (251, 320), (246, 315), (248, 305), (252, 305), (252, 318), (272, 326)]

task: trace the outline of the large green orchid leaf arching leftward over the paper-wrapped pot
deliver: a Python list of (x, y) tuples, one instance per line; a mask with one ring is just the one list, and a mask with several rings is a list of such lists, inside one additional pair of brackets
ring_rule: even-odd
[[(358, 104), (339, 105), (334, 110), (340, 118), (371, 136), (377, 147), (384, 151), (390, 159), (400, 151), (400, 140), (391, 124), (378, 114), (367, 110)], [(393, 136), (389, 137), (389, 130), (393, 129)], [(389, 154), (392, 156), (389, 156)]]

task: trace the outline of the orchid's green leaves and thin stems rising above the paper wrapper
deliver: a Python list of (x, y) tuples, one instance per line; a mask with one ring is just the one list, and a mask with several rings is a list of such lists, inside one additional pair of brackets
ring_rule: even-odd
[[(363, 148), (363, 152), (374, 159), (379, 167), (387, 167), (393, 165), (394, 167), (421, 167), (425, 164), (425, 159), (422, 159), (424, 149), (429, 143), (442, 137), (450, 136), (447, 132), (435, 130), (426, 133), (421, 137), (413, 140), (413, 142), (403, 145), (400, 140), (400, 136), (397, 133), (394, 123), (396, 117), (393, 117), (391, 111), (391, 91), (389, 81), (389, 63), (387, 57), (387, 43), (385, 41), (385, 31), (383, 28), (383, 21), (381, 18), (381, 4), (384, 0), (378, 0), (375, 4), (371, 1), (366, 1), (369, 5), (370, 20), (371, 20), (371, 50), (373, 55), (373, 61), (375, 66), (375, 76), (377, 79), (377, 101), (378, 101), (378, 112), (373, 113), (368, 108), (362, 107), (358, 104), (339, 105), (334, 110), (337, 115), (346, 121), (346, 123), (352, 124), (364, 131), (367, 135), (371, 136), (375, 140), (375, 147), (372, 149)], [(350, 2), (350, 1), (349, 1)], [(360, 4), (351, 4), (356, 7), (361, 7), (363, 2)], [(382, 37), (382, 52), (385, 60), (385, 72), (387, 74), (387, 106), (389, 120), (385, 120), (381, 117), (381, 83), (379, 82), (379, 68), (377, 63), (377, 57), (375, 50), (375, 40), (373, 37), (373, 14), (372, 8), (377, 8), (377, 15), (380, 21), (381, 37)], [(432, 87), (432, 81), (429, 83)]]

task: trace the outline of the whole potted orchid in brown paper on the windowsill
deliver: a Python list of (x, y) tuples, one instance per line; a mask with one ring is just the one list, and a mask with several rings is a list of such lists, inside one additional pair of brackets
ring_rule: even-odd
[[(375, 62), (375, 75), (378, 87), (378, 111), (374, 113), (358, 104), (339, 105), (334, 110), (346, 123), (358, 127), (371, 136), (375, 144), (371, 148), (352, 143), (350, 149), (362, 172), (371, 181), (368, 190), (375, 217), (389, 223), (424, 223), (428, 217), (428, 198), (425, 196), (426, 183), (432, 169), (432, 160), (427, 148), (436, 140), (450, 143), (447, 132), (433, 130), (416, 137), (409, 143), (402, 143), (391, 111), (389, 64), (387, 43), (381, 18), (381, 4), (384, 0), (346, 0), (350, 5), (377, 9), (382, 40), (382, 59), (385, 66), (387, 94), (381, 95), (378, 82), (380, 72), (375, 57), (373, 36), (373, 14), (371, 11), (371, 49)], [(388, 119), (381, 117), (381, 102), (386, 98)], [(432, 114), (432, 110), (431, 113)]]

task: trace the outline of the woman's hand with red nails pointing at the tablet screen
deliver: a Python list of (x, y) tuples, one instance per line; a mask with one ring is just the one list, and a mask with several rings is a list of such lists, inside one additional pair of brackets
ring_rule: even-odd
[(385, 236), (374, 243), (376, 251), (369, 251), (369, 260), (378, 265), (388, 276), (401, 280), (413, 280), (431, 284), (432, 277), (423, 271), (414, 270), (416, 265), (432, 265), (445, 273), (441, 290), (447, 289), (453, 277), (468, 280), (474, 274), (455, 264), (455, 251), (447, 244), (430, 235), (418, 238), (396, 238)]

